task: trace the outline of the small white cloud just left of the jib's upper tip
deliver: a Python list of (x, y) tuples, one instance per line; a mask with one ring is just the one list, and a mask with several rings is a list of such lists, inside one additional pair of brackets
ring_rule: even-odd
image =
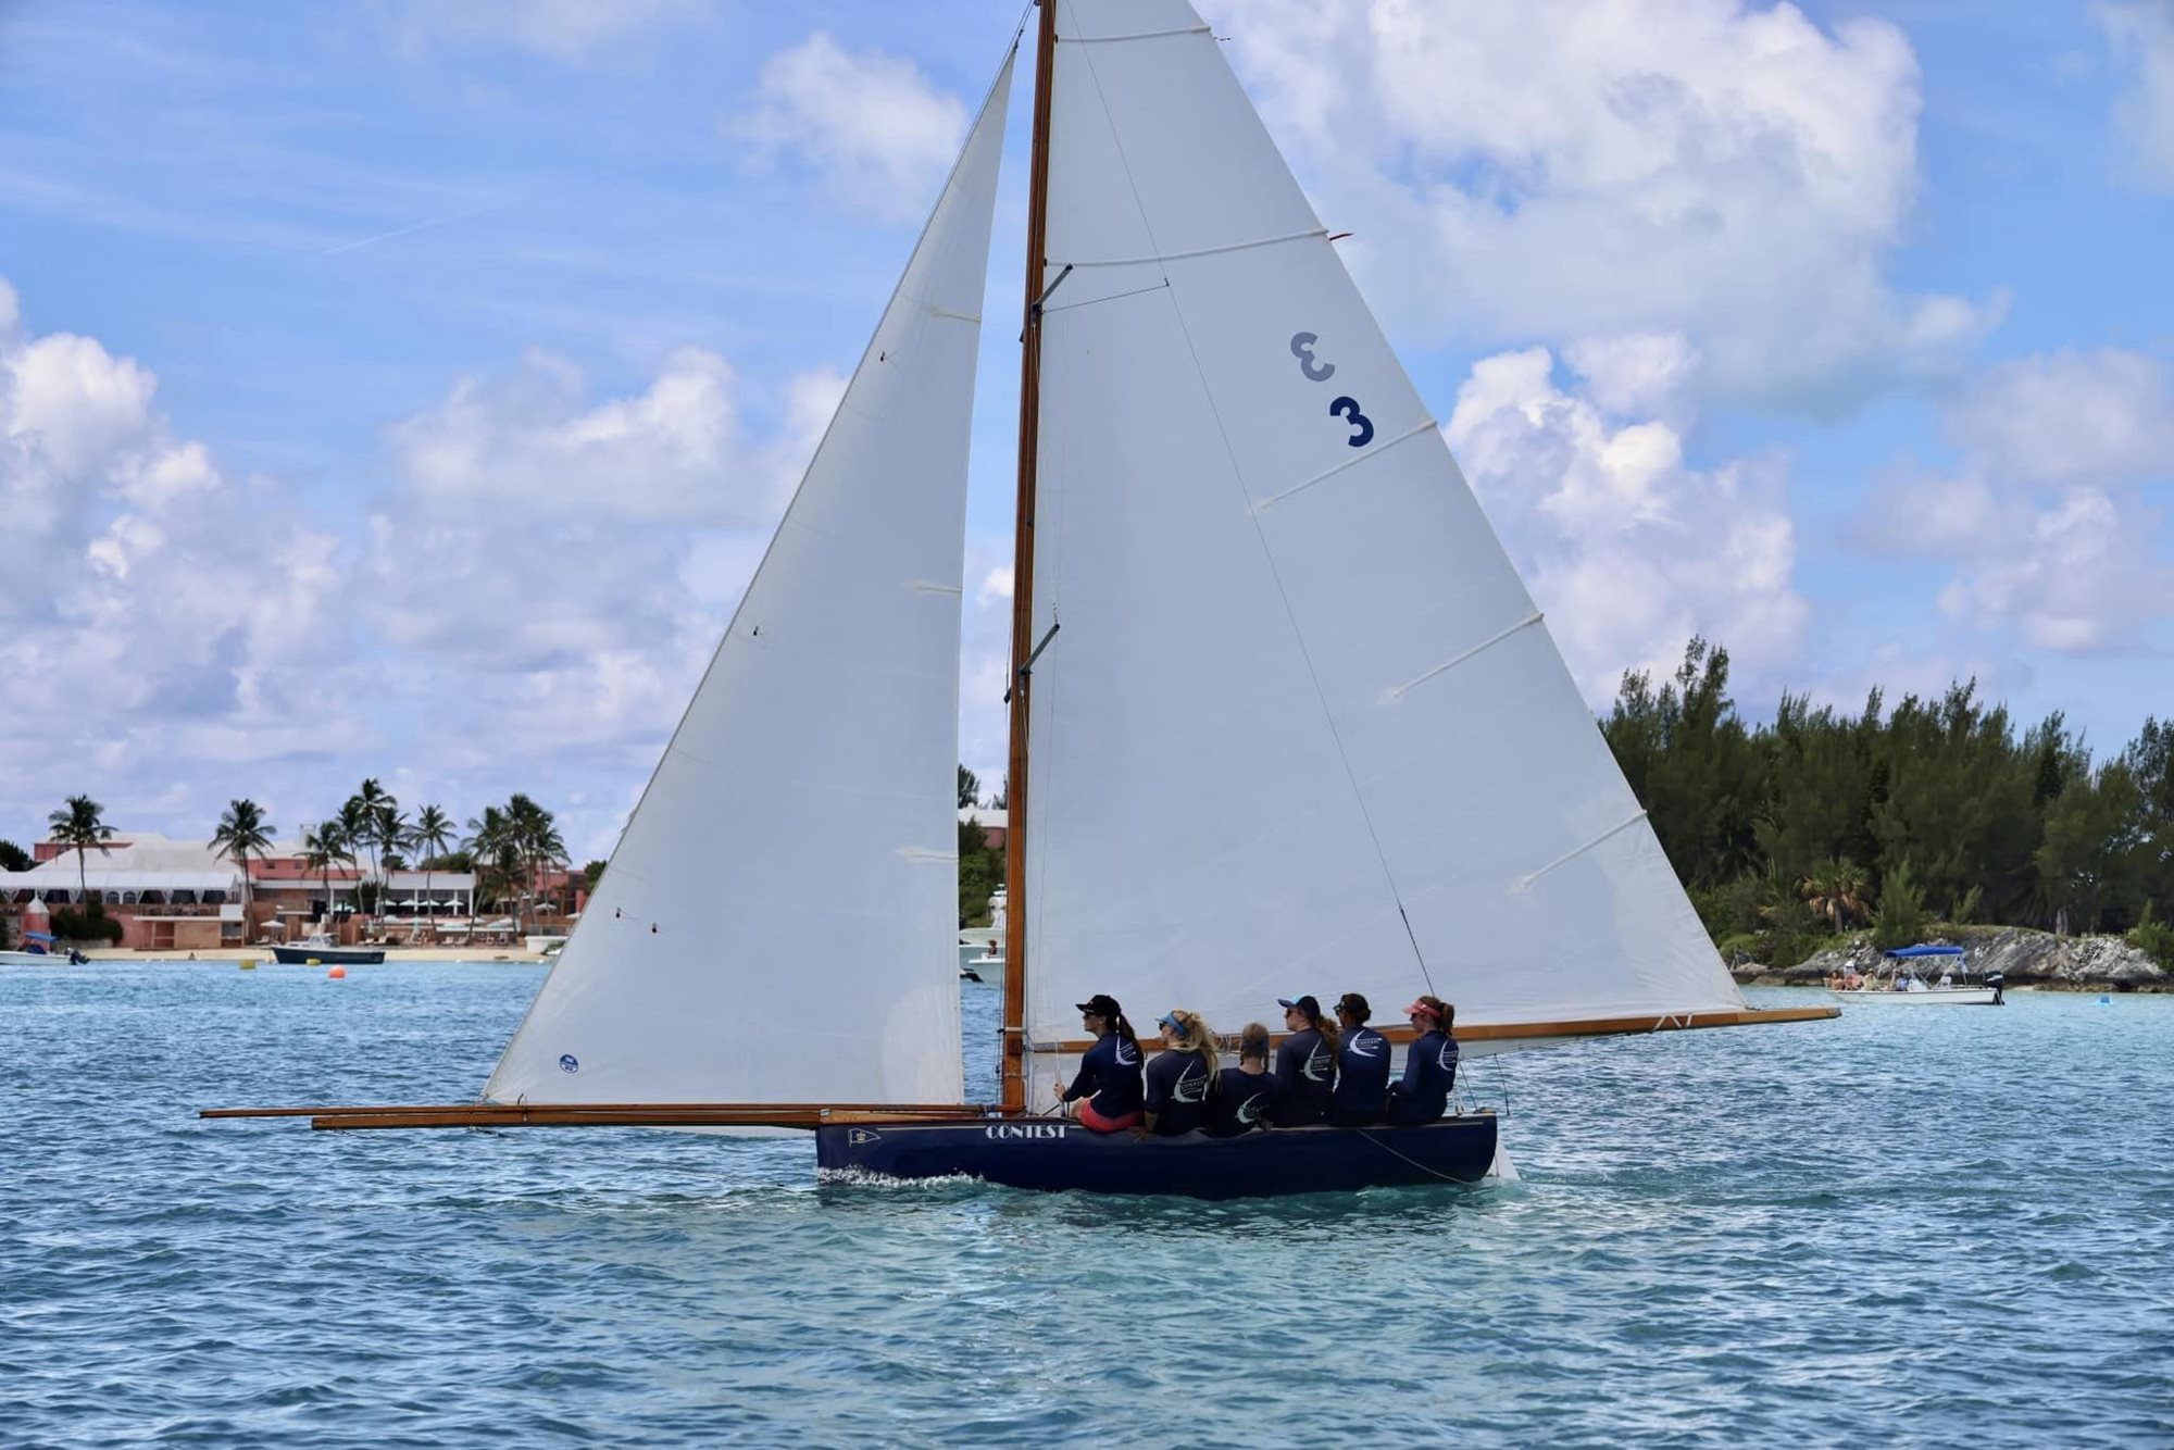
[(757, 165), (789, 157), (830, 200), (889, 222), (928, 209), (965, 139), (965, 104), (913, 61), (844, 50), (817, 30), (763, 65), (752, 109), (724, 124)]

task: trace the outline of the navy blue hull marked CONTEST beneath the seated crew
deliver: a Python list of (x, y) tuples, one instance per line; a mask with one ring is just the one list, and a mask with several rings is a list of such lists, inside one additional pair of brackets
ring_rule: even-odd
[(883, 1178), (965, 1174), (1015, 1189), (1265, 1198), (1472, 1183), (1494, 1163), (1496, 1117), (1422, 1128), (1280, 1128), (1244, 1137), (1089, 1133), (1076, 1122), (870, 1122), (815, 1130), (815, 1165)]

